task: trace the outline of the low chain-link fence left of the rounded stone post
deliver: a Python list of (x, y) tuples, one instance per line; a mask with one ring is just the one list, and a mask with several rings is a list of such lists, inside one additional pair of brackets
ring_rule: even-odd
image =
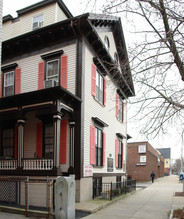
[(0, 178), (0, 205), (25, 209), (25, 216), (53, 218), (54, 180)]

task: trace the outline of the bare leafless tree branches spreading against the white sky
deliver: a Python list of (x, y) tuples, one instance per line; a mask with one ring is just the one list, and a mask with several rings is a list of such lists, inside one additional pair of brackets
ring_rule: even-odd
[(129, 60), (136, 97), (135, 118), (142, 132), (156, 136), (179, 125), (184, 117), (184, 2), (181, 0), (106, 0), (104, 13), (121, 15), (129, 22), (136, 42)]

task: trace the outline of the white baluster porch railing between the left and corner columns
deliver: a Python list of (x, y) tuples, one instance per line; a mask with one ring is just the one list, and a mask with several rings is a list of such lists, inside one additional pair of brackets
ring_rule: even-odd
[(53, 159), (23, 159), (24, 170), (51, 170)]

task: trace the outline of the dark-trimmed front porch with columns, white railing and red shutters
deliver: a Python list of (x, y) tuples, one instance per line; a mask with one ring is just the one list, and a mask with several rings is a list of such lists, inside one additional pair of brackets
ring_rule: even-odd
[(0, 110), (0, 175), (57, 176), (74, 167), (74, 108), (37, 93), (36, 103)]

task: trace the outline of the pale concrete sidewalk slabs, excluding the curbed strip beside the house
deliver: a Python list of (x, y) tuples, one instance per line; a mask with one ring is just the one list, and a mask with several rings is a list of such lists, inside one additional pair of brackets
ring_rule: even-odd
[[(182, 186), (182, 183), (178, 181), (178, 176), (157, 179), (147, 188), (128, 195), (85, 219), (168, 219), (170, 210), (184, 207), (184, 197), (174, 195), (175, 192), (182, 192)], [(83, 204), (84, 207), (87, 208)], [(89, 204), (88, 209), (89, 207), (92, 205)]]

